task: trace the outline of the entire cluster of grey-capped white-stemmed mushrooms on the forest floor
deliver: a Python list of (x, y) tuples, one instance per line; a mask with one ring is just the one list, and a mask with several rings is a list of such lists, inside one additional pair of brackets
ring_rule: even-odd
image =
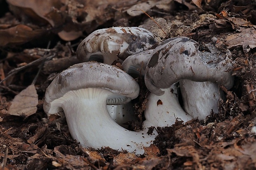
[[(82, 63), (62, 71), (47, 88), (45, 113), (64, 111), (72, 138), (85, 147), (143, 154), (143, 147), (158, 135), (156, 130), (148, 133), (149, 127), (171, 126), (176, 119), (205, 119), (211, 111), (218, 112), (218, 99), (224, 97), (218, 86), (230, 89), (233, 83), (230, 52), (211, 43), (205, 48), (200, 51), (187, 37), (158, 44), (143, 28), (92, 32), (77, 49)], [(116, 62), (123, 70), (111, 65)], [(138, 76), (145, 78), (151, 94), (142, 130), (129, 131), (124, 123), (136, 118), (131, 101), (140, 92)]]

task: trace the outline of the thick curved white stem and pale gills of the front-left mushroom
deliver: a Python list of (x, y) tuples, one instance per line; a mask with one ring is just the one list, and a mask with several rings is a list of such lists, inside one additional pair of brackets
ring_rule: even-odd
[(147, 131), (128, 131), (116, 124), (106, 105), (113, 95), (116, 96), (109, 90), (99, 88), (73, 90), (53, 101), (51, 109), (63, 108), (71, 136), (82, 145), (143, 154), (143, 146), (149, 146), (157, 133), (149, 136)]

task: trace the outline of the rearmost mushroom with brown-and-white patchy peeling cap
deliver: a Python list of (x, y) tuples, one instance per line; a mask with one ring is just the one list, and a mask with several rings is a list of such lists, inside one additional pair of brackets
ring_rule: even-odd
[(105, 28), (88, 35), (79, 44), (76, 54), (83, 62), (94, 60), (112, 64), (123, 62), (129, 55), (148, 50), (155, 44), (154, 35), (144, 28)]

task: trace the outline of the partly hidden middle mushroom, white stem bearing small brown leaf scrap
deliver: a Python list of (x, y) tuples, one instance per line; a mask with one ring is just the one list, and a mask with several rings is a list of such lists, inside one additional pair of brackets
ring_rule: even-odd
[[(153, 50), (147, 50), (130, 55), (122, 64), (123, 70), (133, 77), (145, 76), (145, 69), (152, 52)], [(157, 96), (154, 93), (149, 94), (145, 108), (146, 120), (143, 122), (143, 127), (171, 126), (176, 119), (180, 119), (183, 122), (192, 119), (192, 116), (187, 114), (180, 106), (177, 84), (163, 90), (165, 93), (161, 96)]]

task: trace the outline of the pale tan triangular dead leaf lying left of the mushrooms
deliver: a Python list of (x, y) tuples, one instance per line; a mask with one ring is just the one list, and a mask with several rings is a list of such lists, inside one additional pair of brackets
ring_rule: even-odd
[(35, 85), (30, 85), (16, 95), (12, 101), (8, 113), (17, 116), (30, 116), (36, 113), (38, 104), (38, 95)]

